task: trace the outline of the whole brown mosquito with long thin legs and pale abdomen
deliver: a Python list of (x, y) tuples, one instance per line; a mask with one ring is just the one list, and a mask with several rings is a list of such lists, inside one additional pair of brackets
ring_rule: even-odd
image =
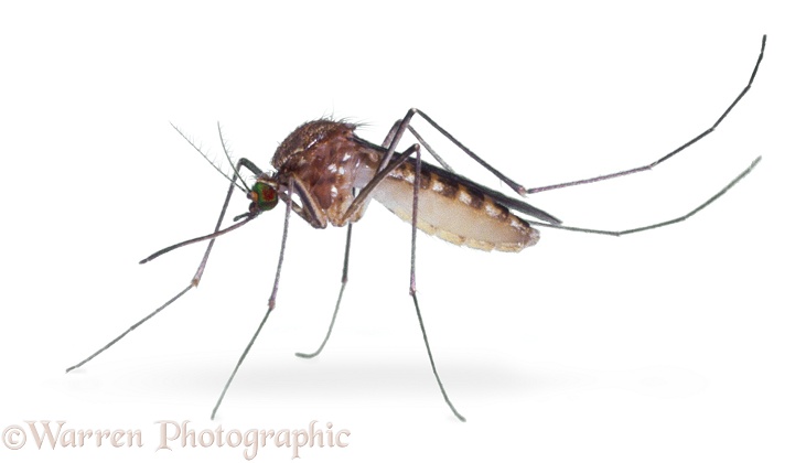
[[(207, 244), (204, 257), (186, 288), (160, 305), (157, 310), (131, 325), (122, 334), (110, 341), (104, 347), (99, 348), (93, 355), (67, 368), (67, 372), (78, 368), (92, 360), (120, 341), (123, 336), (146, 323), (149, 319), (171, 305), (192, 288), (197, 287), (202, 280), (202, 274), (204, 273), (215, 239), (246, 225), (257, 218), (261, 213), (271, 211), (280, 201), (282, 201), (286, 204), (282, 239), (280, 241), (275, 282), (268, 301), (268, 310), (264, 314), (255, 334), (249, 340), (249, 343), (246, 345), (246, 348), (238, 358), (235, 364), (235, 368), (224, 385), (218, 400), (213, 408), (213, 412), (211, 413), (211, 419), (215, 419), (216, 412), (218, 411), (235, 375), (238, 373), (244, 359), (249, 354), (255, 340), (257, 340), (260, 331), (264, 329), (269, 314), (271, 314), (275, 310), (291, 212), (297, 214), (314, 228), (325, 228), (329, 224), (335, 227), (347, 227), (346, 244), (344, 247), (344, 263), (342, 267), (342, 283), (330, 326), (327, 327), (327, 332), (319, 348), (310, 354), (297, 354), (297, 356), (302, 358), (312, 358), (318, 356), (324, 348), (331, 333), (333, 332), (333, 325), (335, 324), (336, 315), (338, 314), (338, 308), (341, 306), (342, 297), (347, 284), (350, 245), (353, 224), (362, 218), (364, 212), (369, 205), (369, 201), (375, 200), (398, 215), (401, 219), (411, 224), (409, 295), (411, 297), (415, 305), (417, 320), (420, 325), (420, 331), (422, 332), (422, 341), (426, 345), (426, 352), (428, 353), (428, 359), (431, 364), (431, 370), (437, 380), (440, 392), (442, 394), (442, 398), (453, 414), (459, 420), (465, 421), (464, 417), (459, 413), (449, 399), (448, 392), (445, 392), (445, 388), (442, 384), (442, 379), (440, 378), (439, 373), (437, 373), (437, 366), (433, 360), (433, 355), (431, 354), (431, 346), (428, 342), (428, 335), (426, 334), (426, 326), (422, 322), (420, 305), (417, 301), (415, 257), (418, 229), (454, 245), (487, 251), (498, 250), (507, 252), (518, 252), (535, 245), (540, 237), (538, 228), (536, 227), (540, 226), (570, 232), (604, 234), (612, 236), (645, 232), (683, 222), (702, 211), (746, 176), (761, 161), (761, 158), (756, 158), (750, 166), (735, 176), (728, 185), (717, 192), (717, 194), (680, 217), (625, 230), (580, 228), (563, 225), (555, 216), (522, 200), (491, 190), (453, 172), (442, 158), (440, 158), (415, 130), (411, 126), (411, 119), (415, 116), (419, 116), (472, 160), (480, 163), (484, 166), (484, 169), (497, 176), (504, 184), (522, 196), (548, 190), (601, 182), (604, 180), (648, 171), (711, 133), (744, 97), (748, 90), (750, 90), (759, 71), (761, 61), (764, 57), (765, 44), (766, 35), (762, 37), (761, 51), (748, 84), (740, 91), (739, 96), (737, 96), (730, 104), (728, 109), (726, 109), (717, 119), (717, 121), (700, 134), (694, 137), (668, 154), (649, 164), (606, 175), (558, 183), (548, 186), (530, 189), (524, 187), (522, 184), (515, 182), (509, 176), (504, 175), (486, 161), (482, 160), (426, 112), (416, 108), (409, 109), (402, 119), (395, 122), (381, 144), (375, 144), (357, 137), (355, 134), (357, 126), (346, 121), (320, 119), (305, 122), (291, 132), (291, 134), (289, 134), (278, 147), (275, 152), (275, 157), (271, 160), (271, 165), (273, 168), (272, 171), (262, 171), (246, 158), (241, 158), (236, 163), (233, 163), (223, 141), (224, 139), (221, 133), (221, 126), (218, 126), (222, 146), (224, 147), (224, 152), (230, 168), (233, 169), (232, 176), (218, 168), (174, 126), (174, 129), (176, 129), (180, 134), (196, 149), (196, 151), (205, 157), (207, 162), (209, 162), (227, 179), (229, 187), (213, 233), (169, 246), (141, 260), (140, 263), (151, 261), (176, 248), (206, 240), (209, 243)], [(397, 152), (396, 149), (398, 143), (404, 133), (407, 131), (418, 140), (418, 143), (411, 144), (402, 152)], [(420, 154), (421, 147), (425, 148), (441, 166), (423, 162)], [(240, 175), (240, 170), (243, 168), (246, 168), (255, 175), (255, 182), (251, 187), (247, 185), (247, 182)], [(241, 190), (249, 200), (250, 203), (248, 211), (237, 215), (234, 218), (234, 225), (222, 228), (233, 191), (236, 187)], [(519, 213), (520, 215), (516, 213)]]

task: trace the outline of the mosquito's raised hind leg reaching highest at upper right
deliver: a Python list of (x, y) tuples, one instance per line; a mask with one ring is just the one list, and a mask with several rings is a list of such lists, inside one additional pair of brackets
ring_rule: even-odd
[[(615, 177), (623, 176), (623, 175), (628, 175), (628, 174), (633, 174), (633, 173), (637, 173), (637, 172), (648, 171), (652, 168), (660, 164), (662, 162), (664, 162), (664, 161), (668, 160), (669, 158), (674, 157), (675, 154), (679, 153), (680, 151), (685, 150), (686, 148), (690, 147), (691, 144), (698, 142), (699, 140), (701, 140), (702, 138), (705, 138), (706, 136), (708, 136), (709, 133), (711, 133), (713, 130), (716, 130), (716, 128), (722, 122), (722, 120), (728, 116), (728, 114), (730, 114), (730, 111), (733, 110), (733, 107), (750, 90), (750, 87), (752, 86), (753, 80), (755, 79), (755, 75), (756, 75), (756, 73), (759, 71), (759, 65), (761, 65), (761, 61), (764, 57), (764, 47), (765, 47), (765, 45), (766, 45), (766, 35), (764, 35), (764, 37), (762, 39), (762, 42), (761, 42), (761, 52), (759, 53), (759, 58), (755, 62), (755, 67), (753, 67), (753, 72), (752, 72), (752, 74), (750, 76), (750, 80), (744, 86), (744, 88), (739, 93), (739, 96), (737, 96), (737, 98), (733, 100), (733, 103), (731, 103), (731, 105), (728, 107), (728, 109), (726, 109), (726, 111), (722, 112), (722, 115), (719, 117), (719, 119), (717, 119), (717, 121), (709, 129), (705, 130), (702, 133), (698, 134), (697, 137), (692, 138), (691, 140), (687, 141), (686, 143), (681, 144), (680, 147), (678, 147), (677, 149), (673, 150), (671, 152), (669, 152), (668, 154), (664, 155), (663, 158), (658, 159), (657, 161), (652, 162), (652, 163), (646, 164), (646, 165), (643, 165), (643, 166), (640, 166), (640, 168), (628, 169), (628, 170), (625, 170), (625, 171), (620, 171), (620, 172), (615, 172), (615, 173), (611, 173), (611, 174), (606, 174), (606, 175), (599, 175), (599, 176), (591, 177), (591, 179), (585, 179), (585, 180), (578, 180), (578, 181), (573, 181), (573, 182), (558, 183), (558, 184), (555, 184), (555, 185), (538, 186), (538, 187), (526, 189), (522, 184), (513, 181), (512, 179), (509, 179), (508, 176), (504, 175), (503, 173), (501, 173), (499, 171), (497, 171), (495, 168), (493, 168), (492, 165), (490, 165), (483, 159), (481, 159), (477, 154), (475, 154), (468, 147), (465, 147), (464, 144), (462, 144), (452, 134), (450, 134), (445, 129), (443, 129), (433, 119), (431, 119), (427, 114), (420, 111), (417, 108), (411, 108), (406, 114), (406, 117), (404, 117), (399, 121), (399, 123), (397, 123), (393, 128), (394, 136), (393, 136), (391, 132), (389, 133), (389, 136), (387, 136), (387, 140), (390, 140), (390, 146), (389, 146), (389, 150), (386, 153), (386, 157), (384, 158), (385, 161), (381, 162), (381, 169), (391, 159), (393, 152), (395, 150), (395, 147), (397, 146), (397, 143), (400, 140), (400, 138), (402, 137), (404, 131), (407, 128), (409, 128), (409, 123), (411, 121), (411, 118), (415, 115), (420, 115), (420, 117), (423, 118), (428, 123), (430, 123), (434, 129), (437, 129), (437, 131), (439, 131), (440, 133), (442, 133), (442, 136), (444, 136), (445, 138), (448, 138), (453, 144), (455, 144), (462, 151), (464, 151), (465, 154), (468, 154), (474, 161), (479, 162), (482, 166), (484, 166), (486, 170), (488, 170), (490, 172), (492, 172), (495, 176), (497, 176), (501, 181), (503, 181), (504, 183), (506, 183), (511, 189), (513, 189), (516, 193), (518, 193), (520, 195), (526, 195), (527, 193), (538, 193), (538, 192), (548, 191), (548, 190), (563, 189), (563, 187), (567, 187), (567, 186), (581, 185), (581, 184), (585, 184), (585, 183), (601, 182), (603, 180), (615, 179)], [(443, 166), (444, 166), (444, 164), (443, 164)]]

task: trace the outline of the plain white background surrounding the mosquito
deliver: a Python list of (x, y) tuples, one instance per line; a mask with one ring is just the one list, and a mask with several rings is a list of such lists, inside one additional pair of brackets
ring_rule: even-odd
[[(146, 445), (37, 451), (29, 437), (0, 459), (238, 461), (227, 448), (155, 453), (154, 421), (319, 420), (348, 429), (350, 445), (303, 449), (303, 461), (803, 461), (798, 15), (764, 2), (606, 4), (2, 7), (0, 428), (141, 429)], [(756, 83), (712, 136), (651, 173), (533, 201), (568, 225), (637, 226), (764, 157), (691, 220), (622, 238), (546, 229), (515, 255), (420, 235), (423, 316), (466, 423), (442, 401), (407, 295), (409, 228), (379, 205), (354, 229), (341, 317), (315, 360), (293, 353), (324, 334), (345, 230), (292, 219), (277, 311), (215, 421), (266, 309), (281, 212), (221, 238), (198, 289), (64, 374), (201, 259), (197, 245), (137, 265), (208, 233), (226, 189), (169, 121), (223, 161), (221, 121), (233, 154), (268, 169), (305, 120), (353, 118), (379, 142), (417, 106), (544, 185), (649, 162), (705, 130), (746, 83), (763, 33)], [(246, 206), (236, 196), (232, 214)], [(256, 461), (290, 457), (267, 446)]]

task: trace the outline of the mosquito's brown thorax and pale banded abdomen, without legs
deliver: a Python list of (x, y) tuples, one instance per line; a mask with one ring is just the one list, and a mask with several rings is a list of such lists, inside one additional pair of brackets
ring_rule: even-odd
[[(277, 171), (261, 174), (257, 182), (275, 186), (288, 182), (281, 181), (283, 177), (293, 177), (302, 198), (301, 216), (314, 228), (357, 222), (369, 201), (351, 208), (353, 192), (373, 180), (387, 150), (356, 137), (355, 129), (354, 125), (332, 120), (300, 126), (278, 148), (271, 161)], [(400, 154), (394, 158), (404, 161), (383, 177), (369, 198), (411, 223), (417, 162)], [(454, 245), (483, 250), (519, 251), (537, 243), (538, 230), (511, 214), (496, 201), (499, 196), (469, 179), (421, 162), (417, 227)], [(535, 218), (559, 224), (527, 203), (507, 200)]]

